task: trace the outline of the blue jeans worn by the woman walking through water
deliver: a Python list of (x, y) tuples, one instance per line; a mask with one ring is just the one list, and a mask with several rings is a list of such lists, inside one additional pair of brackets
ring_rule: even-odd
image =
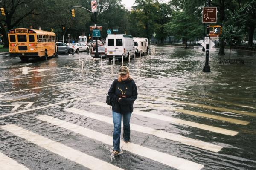
[(130, 140), (130, 118), (131, 113), (121, 114), (113, 111), (114, 134), (113, 134), (113, 150), (120, 151), (121, 122), (123, 116), (124, 124), (124, 140)]

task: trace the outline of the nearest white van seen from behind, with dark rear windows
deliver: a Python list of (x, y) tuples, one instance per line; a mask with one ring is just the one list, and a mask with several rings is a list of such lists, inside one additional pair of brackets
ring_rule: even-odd
[(108, 34), (105, 52), (109, 61), (114, 56), (119, 61), (122, 61), (122, 56), (128, 59), (128, 55), (132, 57), (135, 54), (134, 40), (131, 35)]

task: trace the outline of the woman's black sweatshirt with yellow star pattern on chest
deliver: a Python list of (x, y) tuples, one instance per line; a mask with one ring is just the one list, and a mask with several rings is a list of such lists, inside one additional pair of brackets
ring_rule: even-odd
[[(114, 112), (124, 114), (133, 112), (133, 103), (138, 96), (137, 86), (132, 79), (127, 79), (121, 82), (118, 82), (117, 79), (115, 79), (108, 90), (108, 95), (113, 101), (112, 110)], [(122, 98), (123, 95), (125, 95), (126, 98)]]

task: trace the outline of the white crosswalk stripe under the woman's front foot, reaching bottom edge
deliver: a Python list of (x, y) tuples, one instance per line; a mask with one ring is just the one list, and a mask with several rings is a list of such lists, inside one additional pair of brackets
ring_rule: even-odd
[[(97, 141), (101, 141), (102, 143), (112, 145), (112, 137), (90, 130), (88, 128), (80, 127), (76, 124), (71, 124), (66, 121), (59, 120), (57, 118), (53, 118), (47, 115), (41, 115), (41, 116), (36, 116), (41, 121), (46, 121), (48, 123), (54, 124), (55, 126), (59, 126), (62, 128), (65, 128), (67, 130), (71, 130), (75, 133), (84, 135), (88, 138), (92, 138)], [(127, 150), (131, 153), (149, 158), (151, 160), (160, 162), (162, 164), (166, 164), (170, 167), (174, 167), (178, 170), (201, 170), (204, 165), (185, 160), (183, 158), (178, 158), (177, 156), (172, 156), (166, 153), (161, 153), (156, 150), (149, 149), (147, 147), (140, 146), (138, 144), (133, 144), (133, 143), (125, 143), (121, 141), (120, 146), (122, 150)]]

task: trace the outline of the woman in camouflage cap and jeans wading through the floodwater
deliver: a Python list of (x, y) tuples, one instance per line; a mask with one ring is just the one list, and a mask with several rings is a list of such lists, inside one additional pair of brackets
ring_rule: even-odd
[(133, 104), (137, 99), (138, 92), (134, 80), (130, 77), (127, 66), (121, 66), (118, 79), (115, 79), (108, 90), (108, 95), (112, 99), (112, 114), (114, 122), (113, 152), (120, 153), (121, 121), (123, 116), (123, 139), (127, 143), (130, 141), (130, 117), (133, 112)]

